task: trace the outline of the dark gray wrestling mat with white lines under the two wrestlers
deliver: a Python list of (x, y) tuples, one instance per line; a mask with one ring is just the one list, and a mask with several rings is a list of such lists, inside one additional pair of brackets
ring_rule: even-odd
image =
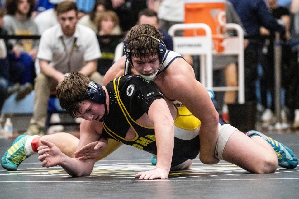
[[(270, 136), (298, 156), (299, 134)], [(0, 139), (1, 156), (12, 141)], [(171, 172), (167, 180), (134, 178), (139, 171), (154, 169), (150, 158), (144, 151), (121, 146), (98, 161), (89, 177), (71, 178), (61, 167), (41, 167), (33, 155), (17, 171), (0, 168), (0, 198), (299, 198), (299, 167), (250, 174), (223, 160), (205, 165), (197, 158), (190, 170)]]

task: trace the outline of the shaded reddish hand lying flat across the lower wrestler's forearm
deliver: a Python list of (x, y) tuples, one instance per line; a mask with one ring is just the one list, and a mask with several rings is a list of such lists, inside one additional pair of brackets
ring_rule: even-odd
[(107, 143), (103, 141), (96, 141), (83, 146), (74, 153), (75, 158), (79, 160), (95, 159), (104, 152), (107, 148)]

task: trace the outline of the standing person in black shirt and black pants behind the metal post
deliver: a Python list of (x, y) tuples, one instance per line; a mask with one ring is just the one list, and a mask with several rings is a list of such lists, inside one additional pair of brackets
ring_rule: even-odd
[[(290, 12), (287, 10), (287, 8), (280, 7), (277, 4), (277, 0), (267, 0), (269, 11), (272, 13), (272, 15), (276, 18), (281, 20), (281, 22), (285, 25), (286, 33), (285, 38), (282, 35), (282, 41), (288, 41), (290, 39)], [(271, 38), (267, 38), (264, 42), (263, 49), (262, 49), (262, 59), (261, 59), (261, 65), (263, 68), (263, 75), (261, 77), (261, 103), (263, 107), (266, 108), (266, 110), (263, 112), (262, 115), (262, 121), (268, 125), (273, 121), (273, 111), (274, 111), (274, 104), (275, 104), (275, 90), (274, 90), (274, 40), (275, 40), (275, 34), (264, 27), (261, 27), (260, 29), (261, 35), (270, 36)], [(286, 88), (286, 96), (290, 96), (289, 89), (288, 89), (288, 78), (286, 75), (288, 75), (288, 66), (290, 64), (293, 64), (292, 62), (297, 60), (293, 59), (294, 55), (291, 52), (291, 48), (288, 45), (282, 45), (282, 87)], [(270, 91), (271, 94), (271, 105), (268, 106), (267, 103), (267, 91)], [(286, 119), (286, 118), (283, 118)]]

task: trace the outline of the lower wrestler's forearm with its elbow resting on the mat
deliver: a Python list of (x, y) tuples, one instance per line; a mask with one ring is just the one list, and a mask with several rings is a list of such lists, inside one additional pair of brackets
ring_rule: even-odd
[(89, 176), (93, 171), (94, 163), (94, 159), (78, 160), (62, 154), (62, 162), (59, 166), (61, 166), (70, 176), (78, 177)]

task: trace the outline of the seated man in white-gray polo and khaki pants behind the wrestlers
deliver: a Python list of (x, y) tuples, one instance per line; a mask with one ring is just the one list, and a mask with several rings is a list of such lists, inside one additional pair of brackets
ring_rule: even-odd
[(79, 71), (98, 83), (100, 47), (93, 30), (77, 24), (78, 9), (73, 1), (57, 5), (59, 24), (47, 29), (40, 39), (37, 58), (40, 74), (35, 79), (34, 110), (27, 134), (44, 134), (50, 90), (70, 72)]

